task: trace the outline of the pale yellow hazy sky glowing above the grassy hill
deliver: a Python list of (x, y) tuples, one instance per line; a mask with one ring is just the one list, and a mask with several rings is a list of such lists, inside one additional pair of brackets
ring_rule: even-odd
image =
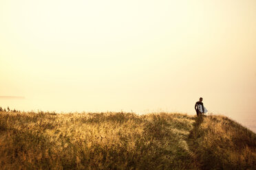
[(255, 66), (255, 0), (0, 1), (3, 107), (247, 117)]

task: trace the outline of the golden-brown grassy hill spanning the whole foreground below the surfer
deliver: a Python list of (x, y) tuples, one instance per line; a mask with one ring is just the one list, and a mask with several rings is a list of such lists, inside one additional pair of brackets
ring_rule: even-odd
[(0, 112), (1, 169), (256, 169), (256, 134), (223, 116)]

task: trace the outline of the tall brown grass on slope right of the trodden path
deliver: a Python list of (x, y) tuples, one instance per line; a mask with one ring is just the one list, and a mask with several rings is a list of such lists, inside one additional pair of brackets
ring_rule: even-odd
[(203, 117), (191, 134), (202, 169), (256, 169), (256, 135), (239, 123), (220, 115)]

